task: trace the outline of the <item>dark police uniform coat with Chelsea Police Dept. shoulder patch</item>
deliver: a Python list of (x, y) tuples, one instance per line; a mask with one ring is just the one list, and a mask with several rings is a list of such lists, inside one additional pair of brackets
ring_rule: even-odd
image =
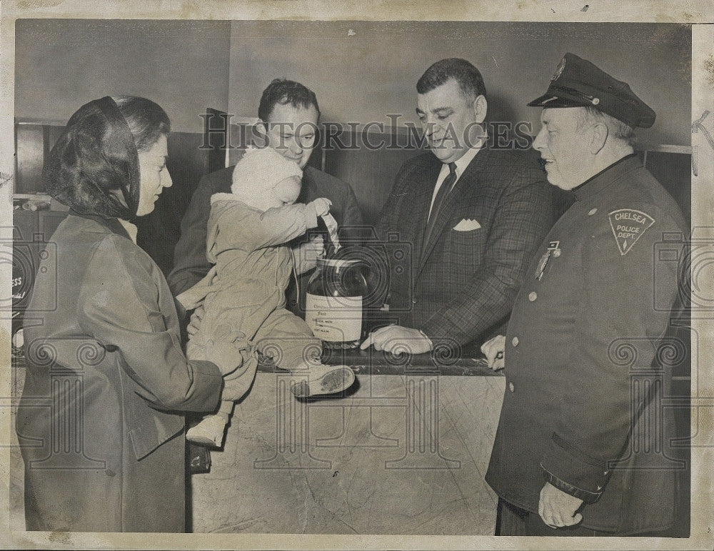
[(486, 481), (535, 514), (550, 481), (584, 500), (582, 525), (594, 530), (664, 529), (681, 465), (667, 457), (671, 409), (661, 398), (684, 352), (661, 337), (685, 224), (634, 155), (575, 198), (516, 298)]

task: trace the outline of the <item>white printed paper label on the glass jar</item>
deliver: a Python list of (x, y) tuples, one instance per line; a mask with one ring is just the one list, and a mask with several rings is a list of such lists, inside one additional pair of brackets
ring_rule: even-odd
[(331, 343), (359, 340), (362, 297), (311, 295), (305, 300), (305, 321), (317, 338)]

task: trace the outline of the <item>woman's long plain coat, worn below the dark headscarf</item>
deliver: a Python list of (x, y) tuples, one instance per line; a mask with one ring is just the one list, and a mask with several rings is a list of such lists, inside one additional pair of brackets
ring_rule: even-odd
[(183, 532), (186, 411), (223, 379), (188, 361), (164, 275), (116, 218), (59, 225), (26, 310), (17, 413), (28, 530)]

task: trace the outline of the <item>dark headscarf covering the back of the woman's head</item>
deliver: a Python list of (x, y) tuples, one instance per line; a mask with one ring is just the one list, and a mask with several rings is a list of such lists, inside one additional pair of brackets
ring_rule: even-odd
[(139, 156), (111, 97), (90, 101), (71, 116), (44, 163), (42, 178), (48, 193), (77, 213), (136, 217)]

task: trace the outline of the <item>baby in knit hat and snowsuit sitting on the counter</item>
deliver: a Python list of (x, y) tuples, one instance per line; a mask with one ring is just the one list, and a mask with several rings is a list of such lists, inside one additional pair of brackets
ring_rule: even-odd
[(188, 358), (203, 358), (209, 341), (238, 331), (243, 363), (226, 375), (221, 408), (186, 433), (193, 442), (223, 445), (234, 401), (253, 383), (260, 352), (279, 368), (295, 373), (293, 395), (337, 393), (355, 379), (346, 365), (323, 365), (322, 343), (308, 325), (285, 308), (293, 271), (285, 243), (317, 226), (331, 202), (295, 203), (301, 188), (298, 165), (272, 148), (248, 147), (233, 170), (231, 193), (211, 196), (206, 256), (216, 278), (203, 305), (198, 332), (188, 341)]

